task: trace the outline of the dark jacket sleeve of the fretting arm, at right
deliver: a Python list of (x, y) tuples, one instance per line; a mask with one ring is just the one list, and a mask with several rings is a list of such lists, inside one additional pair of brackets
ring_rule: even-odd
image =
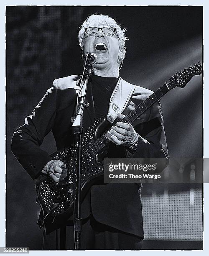
[(133, 127), (147, 142), (139, 138), (136, 150), (133, 153), (127, 150), (126, 154), (130, 158), (146, 159), (146, 162), (149, 162), (150, 158), (161, 158), (158, 171), (162, 171), (168, 165), (168, 150), (160, 102), (156, 102), (144, 117), (138, 118)]

